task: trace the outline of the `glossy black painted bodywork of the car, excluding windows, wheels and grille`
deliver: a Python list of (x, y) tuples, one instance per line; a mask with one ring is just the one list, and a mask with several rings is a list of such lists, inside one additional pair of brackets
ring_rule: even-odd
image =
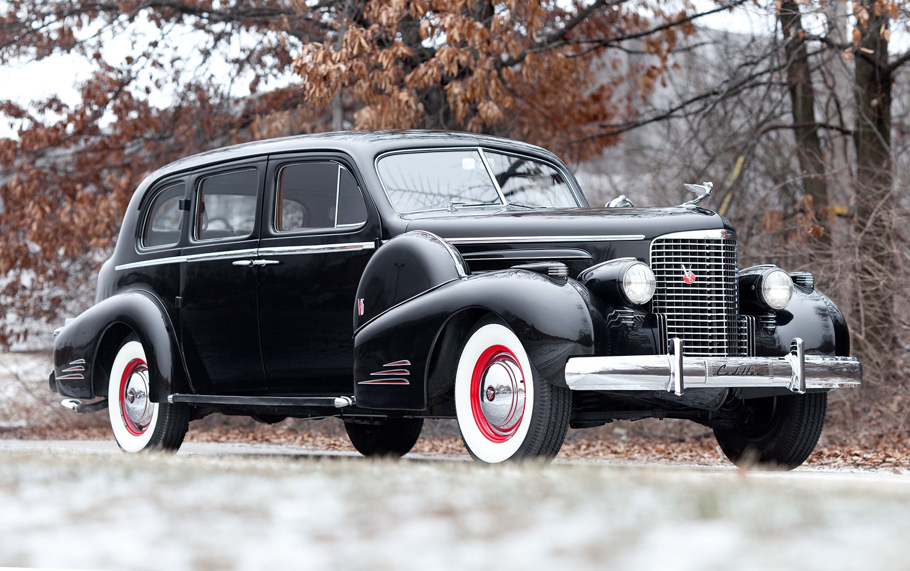
[[(730, 223), (693, 206), (528, 210), (497, 205), (407, 215), (391, 207), (375, 172), (377, 156), (401, 148), (478, 145), (561, 165), (539, 147), (495, 137), (357, 132), (227, 147), (159, 169), (139, 185), (128, 206), (114, 255), (98, 276), (96, 306), (57, 338), (58, 390), (77, 398), (100, 394), (98, 387), (106, 390), (99, 359), (109, 358), (111, 347), (116, 350), (130, 331), (147, 347), (155, 379), (152, 397), (158, 402), (170, 392), (356, 394), (364, 410), (402, 411), (389, 415), (403, 411), (427, 415), (429, 406), (445, 398), (460, 343), (470, 326), (488, 314), (511, 326), (528, 349), (533, 373), (555, 384), (564, 383), (562, 366), (568, 356), (664, 353), (649, 307), (627, 306), (609, 293), (616, 276), (583, 272), (619, 257), (649, 262), (651, 240), (658, 235), (733, 230)], [(369, 210), (367, 222), (339, 231), (276, 232), (272, 222), (278, 169), (325, 160), (339, 162), (356, 177)], [(260, 175), (253, 234), (196, 240), (191, 229), (197, 182), (204, 175), (238, 167), (256, 168)], [(567, 174), (569, 184), (578, 190)], [(191, 204), (183, 215), (180, 241), (143, 248), (138, 231), (152, 197), (176, 182), (185, 183)], [(421, 232), (406, 234), (411, 231)], [(451, 246), (433, 235), (450, 240)], [(346, 244), (365, 246), (308, 254), (230, 255), (243, 249)], [(379, 249), (374, 253), (375, 245)], [(203, 261), (181, 257), (219, 253), (227, 257)], [(161, 258), (174, 261), (158, 264)], [(279, 263), (233, 264), (264, 258)], [(156, 264), (135, 265), (152, 261)], [(573, 279), (560, 284), (539, 273), (511, 269), (537, 262), (563, 262), (569, 275), (581, 274), (588, 287)], [(796, 290), (790, 306), (776, 312), (773, 333), (759, 330), (759, 355), (784, 355), (794, 336), (804, 338), (809, 354), (848, 355), (844, 318), (834, 304), (816, 291)], [(358, 299), (363, 300), (362, 316)], [(743, 313), (761, 312), (746, 300)], [(78, 358), (86, 359), (86, 380), (59, 378), (65, 376), (62, 369)], [(359, 385), (390, 363), (405, 360), (410, 362), (402, 367), (408, 371), (408, 384)]]

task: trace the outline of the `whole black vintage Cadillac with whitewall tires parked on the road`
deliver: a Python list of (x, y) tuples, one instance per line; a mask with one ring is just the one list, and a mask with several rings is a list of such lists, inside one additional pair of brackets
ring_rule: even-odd
[(738, 269), (733, 227), (696, 204), (710, 184), (692, 190), (591, 207), (555, 155), (454, 133), (190, 156), (139, 185), (50, 386), (107, 407), (129, 452), (217, 412), (339, 416), (363, 454), (400, 456), (424, 418), (457, 418), (492, 463), (658, 417), (798, 466), (827, 393), (862, 377), (844, 318), (811, 274)]

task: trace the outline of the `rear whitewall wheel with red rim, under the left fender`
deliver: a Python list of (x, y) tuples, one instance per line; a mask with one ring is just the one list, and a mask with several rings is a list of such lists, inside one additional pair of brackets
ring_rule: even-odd
[(111, 429), (124, 451), (176, 451), (183, 444), (189, 408), (149, 399), (146, 351), (135, 336), (127, 338), (114, 357), (107, 401)]

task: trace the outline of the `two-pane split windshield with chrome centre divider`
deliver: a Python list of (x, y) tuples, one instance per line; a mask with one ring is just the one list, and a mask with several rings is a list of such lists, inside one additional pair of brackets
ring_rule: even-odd
[[(485, 155), (490, 171), (484, 165)], [(414, 151), (379, 159), (379, 179), (399, 212), (474, 205), (573, 207), (565, 177), (551, 165), (525, 157), (480, 151)]]

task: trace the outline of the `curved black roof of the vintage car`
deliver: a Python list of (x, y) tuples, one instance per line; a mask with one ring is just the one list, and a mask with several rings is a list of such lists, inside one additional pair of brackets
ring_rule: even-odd
[(157, 169), (148, 178), (154, 180), (164, 175), (250, 156), (277, 155), (297, 151), (342, 151), (355, 158), (363, 159), (367, 155), (375, 156), (396, 149), (480, 145), (543, 155), (551, 160), (558, 160), (550, 151), (537, 145), (490, 135), (422, 130), (336, 131), (225, 146), (178, 159)]

